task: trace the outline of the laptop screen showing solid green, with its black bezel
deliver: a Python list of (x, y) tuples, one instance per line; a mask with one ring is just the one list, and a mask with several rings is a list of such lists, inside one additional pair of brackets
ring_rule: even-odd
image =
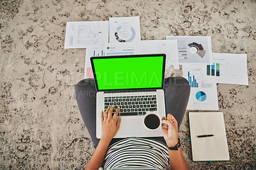
[(165, 54), (92, 57), (97, 91), (163, 88)]

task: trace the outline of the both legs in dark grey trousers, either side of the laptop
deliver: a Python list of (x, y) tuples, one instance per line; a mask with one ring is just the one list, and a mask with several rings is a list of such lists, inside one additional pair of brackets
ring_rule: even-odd
[[(164, 79), (166, 115), (171, 113), (178, 121), (178, 127), (186, 111), (189, 93), (189, 83), (183, 77)], [(96, 137), (96, 90), (93, 79), (84, 79), (76, 84), (76, 100), (84, 124), (96, 148), (100, 139)], [(163, 137), (148, 137), (148, 139), (156, 139), (165, 143)], [(110, 144), (120, 140), (113, 139)]]

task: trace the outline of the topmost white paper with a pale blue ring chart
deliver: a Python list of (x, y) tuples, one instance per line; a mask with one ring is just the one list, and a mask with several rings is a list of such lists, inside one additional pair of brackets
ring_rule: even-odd
[(140, 40), (140, 17), (109, 18), (109, 43)]

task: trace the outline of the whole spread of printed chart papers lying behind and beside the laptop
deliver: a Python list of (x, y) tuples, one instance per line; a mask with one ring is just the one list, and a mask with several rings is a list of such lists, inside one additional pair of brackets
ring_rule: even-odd
[[(248, 85), (247, 54), (213, 53), (211, 36), (141, 40), (140, 17), (67, 22), (65, 49), (86, 48), (84, 78), (93, 78), (92, 56), (166, 54), (166, 66), (189, 81), (189, 110), (218, 111), (217, 83)], [(154, 68), (153, 68), (154, 69)]]

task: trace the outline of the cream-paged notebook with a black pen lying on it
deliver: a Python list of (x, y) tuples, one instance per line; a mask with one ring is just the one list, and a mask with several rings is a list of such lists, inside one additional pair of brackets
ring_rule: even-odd
[(223, 112), (189, 112), (189, 128), (193, 161), (229, 160)]

